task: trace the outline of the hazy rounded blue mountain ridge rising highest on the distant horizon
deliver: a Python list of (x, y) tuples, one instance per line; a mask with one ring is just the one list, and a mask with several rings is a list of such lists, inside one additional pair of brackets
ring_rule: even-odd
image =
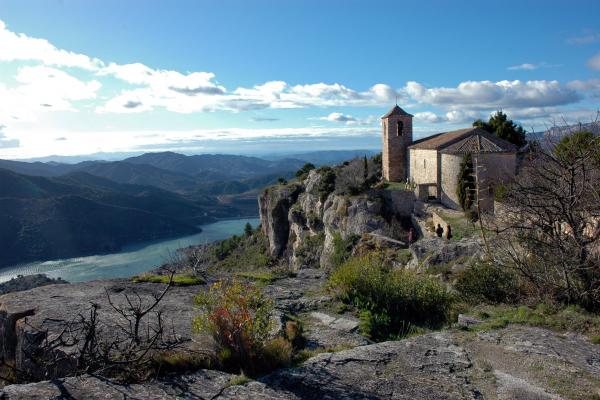
[(156, 168), (200, 177), (205, 181), (220, 179), (239, 180), (259, 175), (296, 171), (305, 161), (286, 158), (263, 160), (225, 154), (185, 156), (173, 152), (146, 153), (123, 160), (131, 164), (146, 164)]

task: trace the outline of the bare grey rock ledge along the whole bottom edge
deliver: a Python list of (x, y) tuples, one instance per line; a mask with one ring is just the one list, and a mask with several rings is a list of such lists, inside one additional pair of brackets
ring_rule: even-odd
[(452, 330), (319, 354), (236, 384), (202, 370), (143, 385), (81, 376), (4, 388), (3, 399), (584, 399), (600, 395), (600, 346), (510, 326)]

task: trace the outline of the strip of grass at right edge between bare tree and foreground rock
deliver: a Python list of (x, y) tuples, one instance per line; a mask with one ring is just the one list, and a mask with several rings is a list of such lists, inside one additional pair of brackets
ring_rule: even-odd
[[(559, 332), (577, 332), (586, 335), (593, 343), (600, 342), (600, 315), (589, 313), (575, 305), (558, 306), (538, 304), (529, 306), (475, 306), (466, 312), (482, 319), (475, 330), (499, 329), (509, 324), (522, 324), (548, 328)], [(596, 342), (594, 342), (596, 340)]]

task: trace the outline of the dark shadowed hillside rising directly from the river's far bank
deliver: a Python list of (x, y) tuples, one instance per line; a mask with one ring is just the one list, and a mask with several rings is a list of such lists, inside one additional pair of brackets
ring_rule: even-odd
[(83, 172), (47, 178), (0, 169), (0, 266), (114, 252), (237, 212), (207, 202)]

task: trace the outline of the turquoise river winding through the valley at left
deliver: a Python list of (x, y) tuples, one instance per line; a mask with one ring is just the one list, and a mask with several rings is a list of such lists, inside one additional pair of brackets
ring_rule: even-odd
[(259, 220), (258, 218), (242, 218), (219, 221), (203, 225), (202, 232), (195, 235), (127, 246), (119, 253), (33, 262), (8, 267), (0, 270), (0, 282), (5, 282), (19, 274), (39, 273), (46, 274), (51, 278), (60, 277), (69, 282), (133, 276), (162, 265), (179, 248), (239, 235), (243, 232), (247, 222), (256, 227)]

